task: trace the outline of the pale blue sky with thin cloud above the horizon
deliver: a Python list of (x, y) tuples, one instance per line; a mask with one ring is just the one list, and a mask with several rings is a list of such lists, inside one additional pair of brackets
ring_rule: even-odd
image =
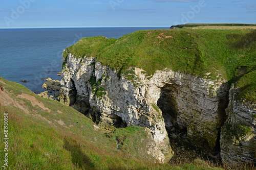
[(11, 0), (0, 28), (170, 27), (256, 23), (255, 0)]

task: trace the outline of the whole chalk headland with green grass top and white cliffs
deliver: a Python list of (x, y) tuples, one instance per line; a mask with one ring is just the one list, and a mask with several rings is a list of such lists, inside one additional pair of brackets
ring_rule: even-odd
[(63, 52), (59, 100), (106, 130), (145, 127), (156, 145), (148, 153), (162, 162), (174, 155), (168, 134), (182, 131), (212, 156), (255, 164), (255, 40), (236, 47), (251, 35), (178, 29), (83, 38)]

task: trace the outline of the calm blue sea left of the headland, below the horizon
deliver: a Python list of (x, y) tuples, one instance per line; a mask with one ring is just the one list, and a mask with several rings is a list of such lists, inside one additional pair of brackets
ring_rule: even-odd
[[(45, 91), (46, 78), (60, 80), (63, 50), (83, 37), (119, 38), (137, 30), (168, 28), (61, 28), (0, 29), (0, 76), (27, 86), (31, 91)], [(27, 81), (23, 83), (21, 81)]]

